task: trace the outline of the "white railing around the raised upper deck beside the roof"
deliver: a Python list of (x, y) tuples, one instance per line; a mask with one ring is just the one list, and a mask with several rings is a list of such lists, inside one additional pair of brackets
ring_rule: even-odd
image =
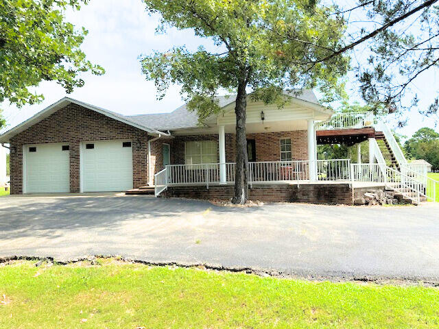
[(317, 125), (317, 130), (359, 129), (372, 127), (373, 112), (341, 112), (335, 113), (331, 120)]

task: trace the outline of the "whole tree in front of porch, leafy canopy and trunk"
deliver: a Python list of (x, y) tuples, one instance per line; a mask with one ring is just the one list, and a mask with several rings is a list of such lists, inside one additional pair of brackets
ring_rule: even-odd
[(211, 38), (217, 52), (199, 47), (189, 51), (174, 47), (141, 59), (143, 73), (154, 80), (158, 97), (170, 84), (180, 84), (189, 108), (200, 119), (218, 112), (218, 90), (237, 93), (237, 167), (234, 202), (245, 202), (247, 191), (246, 95), (282, 106), (285, 88), (318, 87), (328, 99), (343, 93), (348, 58), (336, 56), (313, 64), (327, 49), (341, 47), (342, 20), (331, 9), (300, 0), (144, 0), (151, 12), (161, 14), (159, 29), (167, 25), (193, 29)]

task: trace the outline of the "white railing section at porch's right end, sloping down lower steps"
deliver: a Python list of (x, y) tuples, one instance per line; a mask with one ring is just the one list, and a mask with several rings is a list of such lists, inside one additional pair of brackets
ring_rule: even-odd
[(427, 196), (422, 182), (390, 167), (383, 167), (383, 164), (351, 164), (351, 171), (354, 182), (383, 183), (416, 204), (420, 204), (421, 196)]

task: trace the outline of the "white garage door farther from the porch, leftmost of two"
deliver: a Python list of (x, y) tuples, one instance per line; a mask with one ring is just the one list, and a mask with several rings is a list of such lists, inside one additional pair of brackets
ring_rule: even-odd
[(25, 145), (24, 156), (25, 193), (70, 191), (69, 145)]

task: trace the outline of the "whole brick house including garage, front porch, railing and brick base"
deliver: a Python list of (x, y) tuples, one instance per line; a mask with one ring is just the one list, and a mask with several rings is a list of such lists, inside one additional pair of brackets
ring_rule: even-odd
[[(383, 175), (375, 175), (387, 170), (382, 161), (351, 167), (347, 159), (317, 159), (318, 143), (375, 141), (370, 113), (340, 119), (311, 90), (286, 95), (290, 101), (283, 108), (248, 99), (250, 199), (352, 204), (370, 186), (364, 182), (384, 186)], [(221, 112), (199, 123), (185, 105), (124, 116), (65, 97), (0, 135), (10, 147), (11, 193), (135, 192), (150, 186), (156, 195), (227, 199), (235, 179), (235, 97), (217, 100)], [(369, 143), (370, 163), (380, 159), (375, 144)]]

